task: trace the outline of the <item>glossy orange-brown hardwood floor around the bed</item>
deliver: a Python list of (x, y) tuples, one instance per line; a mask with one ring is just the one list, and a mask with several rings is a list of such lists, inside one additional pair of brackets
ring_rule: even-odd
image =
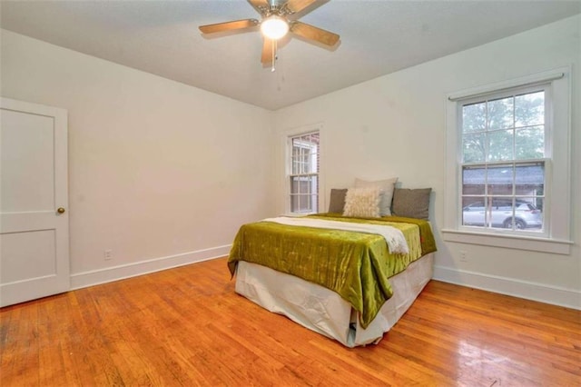
[(581, 312), (432, 281), (345, 348), (234, 293), (225, 259), (0, 310), (0, 384), (573, 386)]

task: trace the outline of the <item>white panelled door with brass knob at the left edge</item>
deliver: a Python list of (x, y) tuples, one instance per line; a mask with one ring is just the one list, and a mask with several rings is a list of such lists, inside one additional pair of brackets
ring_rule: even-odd
[(70, 287), (67, 114), (2, 98), (0, 306)]

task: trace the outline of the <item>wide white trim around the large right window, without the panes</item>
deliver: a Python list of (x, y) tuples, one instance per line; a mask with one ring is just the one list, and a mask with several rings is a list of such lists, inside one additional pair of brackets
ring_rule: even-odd
[[(448, 94), (446, 114), (446, 182), (443, 239), (547, 253), (570, 253), (570, 131), (571, 67), (562, 67), (495, 84)], [(544, 233), (495, 230), (462, 225), (462, 123), (460, 106), (468, 101), (497, 97), (505, 92), (547, 84), (545, 131)], [(548, 100), (548, 102), (547, 102)], [(548, 110), (547, 110), (548, 109)], [(558, 152), (555, 150), (558, 149)], [(513, 163), (511, 161), (510, 163)], [(558, 187), (558, 188), (557, 188)], [(548, 189), (547, 189), (548, 188)]]

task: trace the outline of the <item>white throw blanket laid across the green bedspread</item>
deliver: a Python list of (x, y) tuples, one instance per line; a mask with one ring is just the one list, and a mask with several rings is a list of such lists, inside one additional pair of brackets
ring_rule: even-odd
[(286, 216), (262, 219), (262, 222), (274, 222), (296, 226), (326, 228), (332, 230), (355, 231), (358, 233), (376, 233), (385, 238), (385, 242), (388, 243), (389, 253), (409, 253), (409, 246), (406, 242), (406, 238), (403, 236), (403, 233), (399, 229), (389, 225), (328, 221), (326, 219), (314, 219), (305, 217), (293, 218)]

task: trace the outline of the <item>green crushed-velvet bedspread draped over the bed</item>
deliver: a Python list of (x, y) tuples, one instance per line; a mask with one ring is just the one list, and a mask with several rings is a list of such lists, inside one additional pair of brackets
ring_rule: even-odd
[[(369, 222), (340, 214), (313, 217)], [(389, 253), (385, 239), (377, 234), (257, 222), (241, 226), (232, 244), (228, 267), (233, 275), (238, 261), (258, 263), (318, 283), (349, 302), (359, 312), (361, 326), (366, 328), (392, 295), (388, 278), (429, 253), (420, 243), (426, 238), (420, 235), (420, 225), (387, 218), (370, 222), (401, 230), (409, 244), (409, 254)], [(428, 230), (433, 243), (429, 224)]]

